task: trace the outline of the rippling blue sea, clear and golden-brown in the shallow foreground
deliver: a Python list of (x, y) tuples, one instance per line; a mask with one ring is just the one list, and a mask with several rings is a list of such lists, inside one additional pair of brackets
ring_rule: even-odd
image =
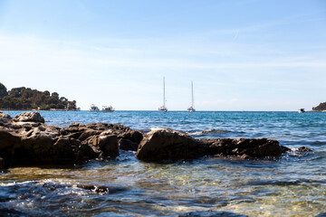
[[(11, 117), (22, 111), (4, 111)], [(326, 113), (281, 111), (40, 111), (45, 124), (104, 122), (191, 137), (269, 138), (292, 151), (254, 160), (206, 156), (145, 163), (135, 152), (81, 165), (15, 167), (0, 173), (0, 213), (9, 216), (317, 216), (326, 212)], [(306, 146), (312, 152), (298, 152)], [(78, 184), (109, 186), (97, 192)], [(118, 189), (118, 190), (117, 190)], [(204, 214), (203, 214), (204, 215)]]

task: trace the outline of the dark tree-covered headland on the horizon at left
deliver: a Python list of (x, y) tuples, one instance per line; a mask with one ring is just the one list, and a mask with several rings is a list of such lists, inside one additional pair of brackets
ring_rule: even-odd
[(77, 110), (76, 101), (59, 98), (57, 92), (30, 88), (7, 90), (0, 82), (0, 109), (3, 110)]

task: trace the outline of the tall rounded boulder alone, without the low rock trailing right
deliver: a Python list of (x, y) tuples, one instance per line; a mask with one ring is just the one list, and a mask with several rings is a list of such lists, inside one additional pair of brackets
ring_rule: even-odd
[(190, 159), (203, 156), (201, 144), (186, 134), (171, 130), (152, 130), (141, 140), (136, 156), (143, 161)]

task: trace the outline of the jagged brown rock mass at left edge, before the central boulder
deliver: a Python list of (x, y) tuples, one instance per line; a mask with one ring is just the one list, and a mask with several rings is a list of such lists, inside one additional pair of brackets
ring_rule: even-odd
[[(104, 123), (60, 128), (46, 126), (43, 122), (38, 112), (24, 112), (15, 118), (0, 113), (0, 168), (75, 164), (94, 158), (116, 157), (119, 156), (118, 137), (132, 131), (129, 127)], [(129, 136), (132, 141), (137, 141), (135, 138), (139, 136)]]

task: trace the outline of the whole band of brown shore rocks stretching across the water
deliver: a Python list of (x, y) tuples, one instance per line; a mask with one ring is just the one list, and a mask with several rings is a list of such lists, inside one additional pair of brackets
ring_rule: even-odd
[[(38, 112), (14, 118), (0, 111), (0, 168), (20, 165), (80, 164), (137, 151), (142, 161), (193, 159), (202, 156), (255, 158), (281, 156), (289, 148), (266, 138), (195, 139), (162, 128), (143, 133), (122, 125), (91, 123), (53, 127)], [(310, 151), (302, 147), (301, 151)]]

